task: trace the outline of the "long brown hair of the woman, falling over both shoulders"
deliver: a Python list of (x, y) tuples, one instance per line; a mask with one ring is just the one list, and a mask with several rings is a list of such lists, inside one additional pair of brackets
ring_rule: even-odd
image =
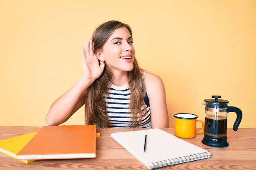
[[(113, 32), (120, 27), (126, 27), (132, 36), (130, 26), (119, 21), (108, 21), (103, 23), (93, 33), (94, 51), (101, 49)], [(111, 127), (104, 95), (108, 93), (108, 85), (112, 79), (112, 72), (108, 65), (105, 65), (102, 75), (96, 79), (87, 89), (85, 97), (85, 124), (96, 125), (97, 127)], [(138, 127), (147, 110), (144, 103), (146, 93), (145, 83), (140, 72), (140, 67), (134, 58), (134, 68), (128, 71), (128, 86), (130, 88), (129, 109), (131, 111), (131, 127)], [(142, 107), (143, 106), (143, 110)], [(138, 115), (139, 114), (139, 115)], [(139, 116), (139, 119), (137, 119)]]

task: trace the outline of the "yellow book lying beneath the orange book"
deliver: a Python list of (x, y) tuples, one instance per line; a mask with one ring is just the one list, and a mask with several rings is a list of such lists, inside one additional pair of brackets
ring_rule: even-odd
[[(8, 139), (0, 140), (0, 153), (17, 159), (16, 155), (21, 149), (35, 136), (38, 132), (28, 133), (26, 135), (20, 135)], [(100, 133), (96, 133), (96, 138), (100, 137)], [(35, 160), (19, 160), (25, 164)]]

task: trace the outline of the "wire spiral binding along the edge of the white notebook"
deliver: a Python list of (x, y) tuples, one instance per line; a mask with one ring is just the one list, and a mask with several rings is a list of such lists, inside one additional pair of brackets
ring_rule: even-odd
[(208, 152), (204, 152), (204, 153), (197, 153), (197, 154), (193, 154), (193, 155), (187, 155), (187, 156), (182, 156), (182, 157), (178, 157), (178, 158), (174, 158), (174, 159), (167, 159), (167, 160), (163, 160), (163, 161), (157, 161), (157, 162), (152, 162), (151, 164), (153, 165), (152, 169), (157, 169), (160, 167), (169, 167), (172, 165), (176, 165), (176, 164), (183, 164), (186, 162), (191, 162), (191, 161), (197, 161), (197, 160), (201, 160), (201, 159), (207, 159), (207, 158), (211, 158), (212, 157), (212, 153)]

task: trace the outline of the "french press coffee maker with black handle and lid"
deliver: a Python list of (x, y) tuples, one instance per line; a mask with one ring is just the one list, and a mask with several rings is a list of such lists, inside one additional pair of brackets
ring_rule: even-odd
[(239, 108), (228, 106), (227, 100), (219, 99), (221, 96), (212, 96), (214, 99), (205, 99), (204, 139), (202, 143), (211, 147), (227, 147), (227, 113), (236, 113), (236, 122), (233, 130), (237, 131), (242, 119)]

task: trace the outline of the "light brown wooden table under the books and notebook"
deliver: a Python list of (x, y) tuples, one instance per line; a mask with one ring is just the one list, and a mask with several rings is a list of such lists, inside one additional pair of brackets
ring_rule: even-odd
[[(41, 127), (0, 126), (0, 140), (38, 131)], [(37, 160), (24, 164), (0, 153), (0, 170), (147, 170), (127, 150), (117, 144), (110, 134), (140, 130), (97, 128), (97, 157), (94, 159)], [(174, 129), (163, 129), (174, 134)], [(212, 153), (212, 158), (179, 164), (163, 169), (171, 170), (256, 170), (256, 129), (227, 130), (229, 146), (208, 147), (201, 143), (203, 133), (193, 139), (183, 139)]]

